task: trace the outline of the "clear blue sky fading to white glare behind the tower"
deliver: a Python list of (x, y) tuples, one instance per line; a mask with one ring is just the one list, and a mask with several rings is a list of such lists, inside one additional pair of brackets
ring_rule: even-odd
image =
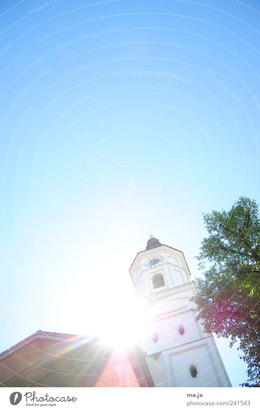
[(0, 350), (123, 322), (151, 232), (194, 280), (202, 213), (260, 203), (259, 17), (257, 0), (0, 2)]

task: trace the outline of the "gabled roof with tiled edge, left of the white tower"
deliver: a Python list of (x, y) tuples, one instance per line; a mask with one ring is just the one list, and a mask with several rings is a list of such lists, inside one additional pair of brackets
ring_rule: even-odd
[(152, 387), (154, 382), (139, 343), (122, 357), (100, 338), (38, 330), (0, 353), (0, 386)]

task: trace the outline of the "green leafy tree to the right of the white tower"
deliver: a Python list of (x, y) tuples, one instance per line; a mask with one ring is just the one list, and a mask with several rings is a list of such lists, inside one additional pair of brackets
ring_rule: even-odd
[(209, 237), (197, 259), (196, 319), (205, 331), (238, 341), (247, 363), (242, 386), (260, 386), (260, 217), (254, 200), (240, 197), (226, 212), (203, 214)]

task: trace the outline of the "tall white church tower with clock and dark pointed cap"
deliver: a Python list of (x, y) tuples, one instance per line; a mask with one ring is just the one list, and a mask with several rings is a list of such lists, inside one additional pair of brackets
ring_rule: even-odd
[(231, 387), (212, 335), (195, 320), (197, 294), (182, 251), (150, 236), (130, 274), (148, 317), (140, 338), (156, 387)]

